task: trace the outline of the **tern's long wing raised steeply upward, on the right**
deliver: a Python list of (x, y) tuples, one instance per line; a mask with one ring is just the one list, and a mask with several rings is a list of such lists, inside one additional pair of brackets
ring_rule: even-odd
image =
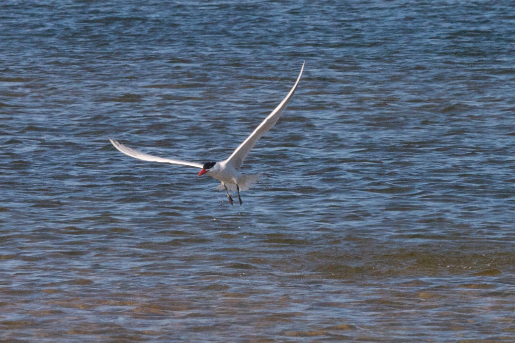
[(286, 108), (288, 101), (291, 99), (291, 96), (293, 96), (293, 94), (295, 93), (295, 89), (297, 89), (297, 85), (299, 84), (300, 77), (302, 76), (302, 71), (304, 70), (304, 64), (305, 63), (302, 63), (302, 68), (300, 69), (300, 74), (297, 77), (297, 81), (295, 82), (293, 88), (291, 88), (291, 90), (289, 91), (286, 98), (284, 98), (284, 100), (281, 101), (281, 103), (276, 107), (276, 109), (273, 110), (272, 113), (270, 113), (268, 115), (268, 117), (266, 117), (265, 120), (263, 120), (261, 122), (259, 127), (257, 127), (254, 130), (254, 132), (252, 132), (252, 134), (250, 136), (248, 136), (247, 139), (245, 139), (243, 141), (243, 143), (241, 143), (241, 145), (239, 145), (239, 147), (236, 148), (236, 150), (234, 150), (232, 155), (229, 156), (228, 159), (226, 159), (226, 163), (232, 164), (236, 170), (239, 170), (239, 168), (242, 166), (242, 163), (243, 163), (243, 160), (245, 159), (245, 157), (247, 157), (250, 150), (252, 150), (252, 148), (254, 148), (255, 143), (268, 130), (270, 130), (274, 124), (276, 124), (277, 120), (281, 116), (281, 113)]

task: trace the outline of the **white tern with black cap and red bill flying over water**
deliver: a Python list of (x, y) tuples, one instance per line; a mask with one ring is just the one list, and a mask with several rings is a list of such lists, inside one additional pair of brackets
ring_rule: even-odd
[(261, 124), (254, 130), (254, 132), (252, 132), (250, 136), (248, 136), (247, 139), (245, 139), (243, 143), (241, 143), (241, 145), (239, 145), (239, 147), (237, 147), (236, 150), (234, 150), (232, 155), (223, 161), (208, 162), (202, 165), (196, 162), (188, 162), (179, 159), (157, 157), (124, 146), (123, 144), (117, 142), (114, 139), (109, 138), (109, 140), (116, 149), (134, 158), (142, 159), (144, 161), (162, 162), (170, 163), (173, 165), (200, 168), (201, 171), (198, 173), (198, 176), (208, 174), (209, 176), (214, 177), (221, 182), (221, 185), (217, 189), (226, 190), (227, 197), (229, 198), (229, 203), (231, 205), (233, 204), (233, 200), (231, 195), (229, 194), (229, 190), (234, 191), (234, 189), (236, 189), (238, 191), (239, 205), (242, 205), (242, 197), (239, 195), (239, 192), (248, 190), (250, 186), (258, 182), (260, 175), (242, 174), (239, 172), (239, 169), (242, 166), (245, 157), (247, 157), (250, 150), (252, 150), (252, 148), (254, 147), (255, 143), (268, 130), (270, 130), (273, 127), (273, 125), (281, 116), (281, 113), (286, 108), (288, 101), (295, 93), (295, 89), (297, 89), (297, 85), (299, 84), (303, 70), (304, 63), (302, 64), (302, 68), (300, 69), (297, 81), (295, 82), (293, 88), (290, 89), (286, 98), (284, 98), (283, 101), (281, 101), (281, 103), (276, 107), (276, 109), (274, 109), (272, 113), (270, 113), (268, 117), (266, 117), (265, 120), (261, 122)]

